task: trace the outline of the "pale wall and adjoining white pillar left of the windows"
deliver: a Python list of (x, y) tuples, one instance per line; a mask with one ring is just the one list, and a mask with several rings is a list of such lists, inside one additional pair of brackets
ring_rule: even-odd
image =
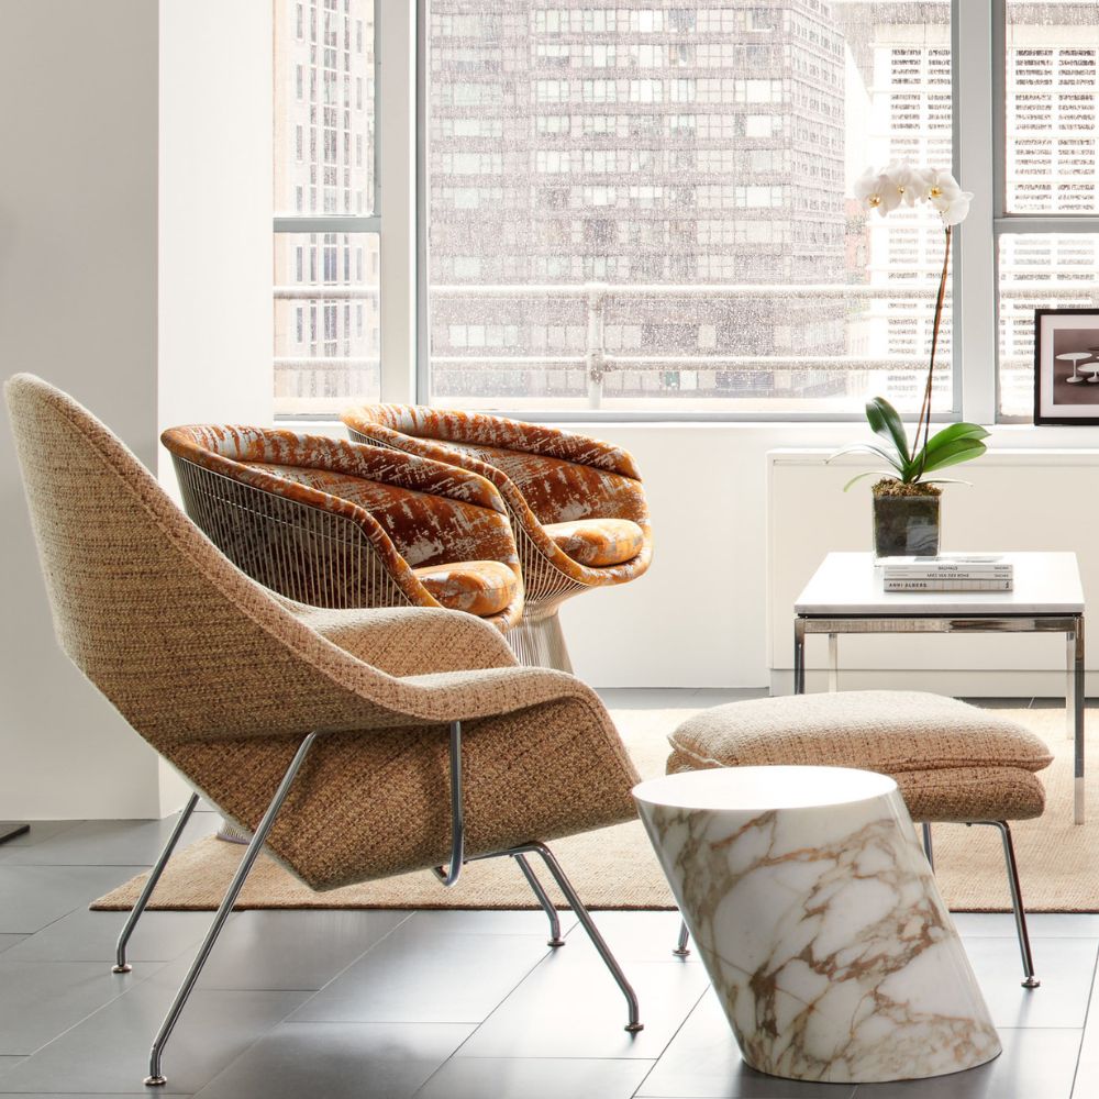
[[(168, 423), (267, 419), (269, 4), (7, 0), (2, 23), (3, 376), (68, 390), (154, 469)], [(0, 818), (169, 811), (178, 780), (54, 642), (7, 420), (0, 492)]]

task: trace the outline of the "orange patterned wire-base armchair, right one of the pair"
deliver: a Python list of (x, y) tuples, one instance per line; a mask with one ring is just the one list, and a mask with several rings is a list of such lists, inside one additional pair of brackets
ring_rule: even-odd
[(577, 592), (636, 579), (653, 556), (633, 457), (610, 443), (474, 412), (368, 404), (343, 414), (362, 443), (490, 480), (511, 518), (526, 606), (508, 642), (524, 664), (571, 671), (557, 611)]

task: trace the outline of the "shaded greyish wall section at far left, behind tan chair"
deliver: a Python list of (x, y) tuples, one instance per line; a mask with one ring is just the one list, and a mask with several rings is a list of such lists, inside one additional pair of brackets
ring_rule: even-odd
[[(156, 4), (19, 0), (2, 27), (0, 371), (67, 389), (149, 463)], [(153, 815), (156, 756), (54, 643), (7, 418), (0, 493), (0, 817)]]

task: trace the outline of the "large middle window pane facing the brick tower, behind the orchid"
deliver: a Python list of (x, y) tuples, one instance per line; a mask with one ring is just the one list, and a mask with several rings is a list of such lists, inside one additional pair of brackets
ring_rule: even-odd
[(950, 3), (470, 7), (428, 3), (430, 401), (918, 410), (942, 231), (846, 195), (951, 164)]

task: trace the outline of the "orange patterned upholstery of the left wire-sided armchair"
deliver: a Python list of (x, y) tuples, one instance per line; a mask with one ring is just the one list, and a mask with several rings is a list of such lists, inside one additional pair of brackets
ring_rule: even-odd
[[(496, 624), (504, 629), (518, 622), (522, 582), (507, 510), (497, 490), (479, 475), (430, 458), (293, 431), (196, 425), (171, 428), (162, 441), (177, 458), (351, 519), (410, 602), (497, 615)], [(231, 545), (223, 544), (227, 537), (217, 539), (220, 547), (255, 575), (248, 563), (268, 547), (256, 544), (256, 533), (246, 524), (233, 529)], [(488, 585), (473, 570), (456, 573), (449, 585), (433, 590), (415, 573), (482, 560), (507, 571), (510, 586), (499, 580)], [(462, 592), (464, 575), (473, 588)], [(508, 598), (500, 604), (504, 592)], [(485, 606), (495, 609), (473, 609)]]

